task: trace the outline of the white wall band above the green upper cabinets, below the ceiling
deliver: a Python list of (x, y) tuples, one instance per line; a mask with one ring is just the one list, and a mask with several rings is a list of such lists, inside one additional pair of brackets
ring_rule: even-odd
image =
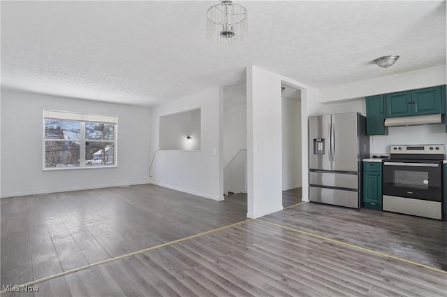
[[(384, 68), (383, 71), (386, 71)], [(321, 103), (445, 85), (446, 65), (318, 89)]]

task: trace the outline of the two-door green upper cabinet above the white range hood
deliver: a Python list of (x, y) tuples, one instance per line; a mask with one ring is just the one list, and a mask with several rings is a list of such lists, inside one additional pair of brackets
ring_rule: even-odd
[(444, 102), (441, 96), (443, 87), (445, 88), (445, 86), (427, 87), (386, 94), (386, 117), (443, 113)]

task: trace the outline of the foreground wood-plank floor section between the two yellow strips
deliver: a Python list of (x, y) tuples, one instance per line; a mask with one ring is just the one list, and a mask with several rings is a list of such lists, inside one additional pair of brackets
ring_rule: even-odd
[(445, 296), (446, 277), (254, 220), (6, 296)]

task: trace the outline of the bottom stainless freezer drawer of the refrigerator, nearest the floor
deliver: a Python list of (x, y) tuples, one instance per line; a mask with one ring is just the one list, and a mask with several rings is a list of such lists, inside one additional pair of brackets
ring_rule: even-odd
[(313, 202), (360, 208), (357, 191), (309, 187), (309, 199)]

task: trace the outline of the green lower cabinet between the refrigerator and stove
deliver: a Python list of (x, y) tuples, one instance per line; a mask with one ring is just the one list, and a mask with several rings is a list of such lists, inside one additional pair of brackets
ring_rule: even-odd
[(381, 163), (363, 163), (363, 204), (365, 208), (382, 210)]

